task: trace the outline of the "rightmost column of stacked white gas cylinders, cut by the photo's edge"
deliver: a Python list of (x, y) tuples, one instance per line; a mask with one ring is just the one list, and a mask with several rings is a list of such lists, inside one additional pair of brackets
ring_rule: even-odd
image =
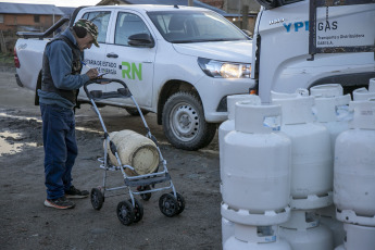
[(375, 78), (353, 91), (349, 129), (336, 140), (334, 202), (346, 237), (335, 250), (375, 249)]

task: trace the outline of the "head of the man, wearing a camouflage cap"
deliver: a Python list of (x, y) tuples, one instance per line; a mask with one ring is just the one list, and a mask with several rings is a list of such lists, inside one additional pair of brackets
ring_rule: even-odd
[(92, 43), (96, 47), (98, 45), (98, 27), (92, 22), (88, 20), (78, 20), (74, 26), (73, 30), (76, 35), (77, 43), (80, 51), (91, 48)]

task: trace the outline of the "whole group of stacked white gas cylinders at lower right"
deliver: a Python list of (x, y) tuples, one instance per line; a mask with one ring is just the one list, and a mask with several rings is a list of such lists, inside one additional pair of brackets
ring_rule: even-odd
[(227, 98), (223, 249), (375, 249), (375, 79)]

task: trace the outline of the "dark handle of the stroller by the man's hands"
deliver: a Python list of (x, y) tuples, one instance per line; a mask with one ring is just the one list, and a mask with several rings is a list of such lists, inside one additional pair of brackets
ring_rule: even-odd
[[(117, 91), (109, 91), (109, 92), (103, 92), (102, 90), (91, 90), (88, 91), (87, 86), (91, 84), (101, 84), (101, 83), (117, 83), (121, 84), (124, 88), (118, 88)], [(84, 84), (84, 90), (87, 95), (87, 97), (92, 100), (92, 99), (108, 99), (108, 98), (128, 98), (132, 96), (130, 89), (127, 87), (127, 85), (120, 79), (111, 79), (111, 78), (97, 78), (97, 79), (91, 79), (89, 82), (86, 82)]]

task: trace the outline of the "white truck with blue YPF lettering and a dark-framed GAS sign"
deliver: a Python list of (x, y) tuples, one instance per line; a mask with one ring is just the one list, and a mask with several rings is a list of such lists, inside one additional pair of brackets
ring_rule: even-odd
[(262, 102), (341, 84), (348, 93), (375, 77), (374, 0), (258, 0), (251, 78)]

